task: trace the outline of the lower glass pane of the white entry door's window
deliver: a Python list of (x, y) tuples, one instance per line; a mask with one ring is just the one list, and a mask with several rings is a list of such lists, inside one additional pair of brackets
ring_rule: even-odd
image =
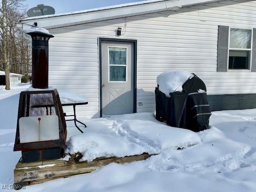
[(110, 66), (110, 81), (126, 81), (126, 66)]

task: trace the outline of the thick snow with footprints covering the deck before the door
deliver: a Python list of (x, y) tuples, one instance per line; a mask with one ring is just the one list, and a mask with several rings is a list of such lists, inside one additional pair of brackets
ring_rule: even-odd
[(81, 161), (144, 152), (158, 154), (168, 148), (184, 148), (200, 142), (196, 133), (166, 126), (152, 113), (113, 116), (86, 124), (86, 133), (72, 136), (66, 148), (69, 154), (82, 153)]

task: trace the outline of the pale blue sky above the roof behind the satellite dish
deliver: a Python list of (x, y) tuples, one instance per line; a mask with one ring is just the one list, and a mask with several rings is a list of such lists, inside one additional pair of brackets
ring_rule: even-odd
[(52, 6), (58, 14), (137, 1), (142, 0), (26, 0), (25, 4), (28, 9), (38, 4)]

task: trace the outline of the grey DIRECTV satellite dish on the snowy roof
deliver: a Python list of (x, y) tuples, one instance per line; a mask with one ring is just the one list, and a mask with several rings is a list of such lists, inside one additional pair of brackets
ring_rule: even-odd
[(55, 10), (51, 6), (45, 6), (44, 4), (37, 5), (27, 11), (29, 17), (42, 16), (42, 15), (51, 15), (55, 14)]

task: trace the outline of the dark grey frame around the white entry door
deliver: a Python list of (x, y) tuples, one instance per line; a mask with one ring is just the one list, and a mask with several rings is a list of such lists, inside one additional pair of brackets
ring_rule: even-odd
[(137, 112), (137, 40), (134, 39), (116, 39), (116, 38), (104, 38), (100, 37), (98, 44), (99, 44), (99, 64), (100, 64), (100, 70), (99, 70), (99, 90), (100, 90), (100, 117), (102, 117), (102, 62), (101, 62), (101, 44), (102, 41), (112, 41), (112, 42), (128, 42), (133, 43), (134, 46), (134, 70), (133, 70), (133, 76), (134, 76), (134, 83), (133, 83), (133, 113)]

